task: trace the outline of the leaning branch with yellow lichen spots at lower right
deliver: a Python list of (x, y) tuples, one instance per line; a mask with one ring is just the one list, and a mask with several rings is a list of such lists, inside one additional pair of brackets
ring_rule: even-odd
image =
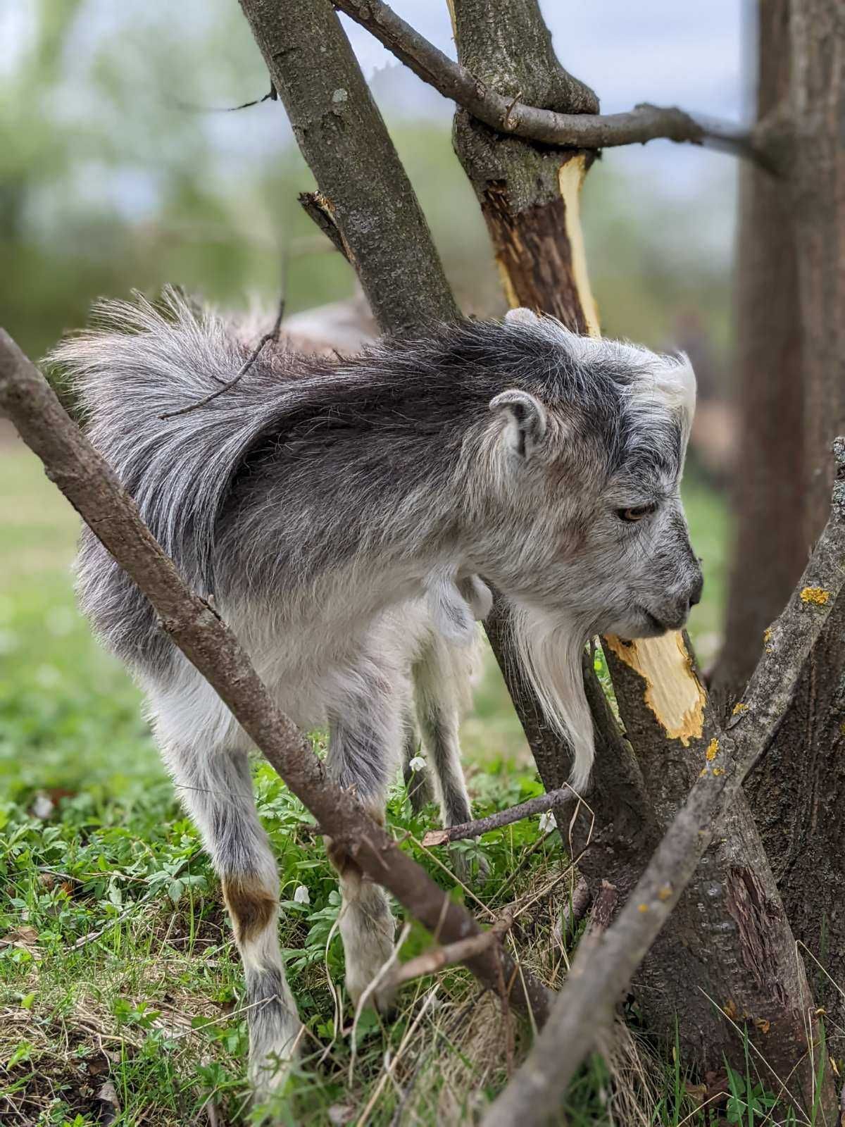
[(616, 922), (579, 952), (527, 1061), (483, 1127), (532, 1127), (559, 1107), (576, 1068), (612, 1020), (613, 1008), (695, 871), (757, 756), (777, 730), (845, 583), (845, 438), (834, 443), (830, 517), (780, 619), (741, 708), (706, 749), (701, 774)]

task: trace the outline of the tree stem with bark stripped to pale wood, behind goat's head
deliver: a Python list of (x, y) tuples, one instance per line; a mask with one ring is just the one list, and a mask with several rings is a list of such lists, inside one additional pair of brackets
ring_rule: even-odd
[[(512, 97), (522, 91), (524, 100), (564, 113), (594, 112), (589, 91), (564, 72), (561, 78), (536, 0), (500, 2), (495, 18), (483, 0), (452, 0), (452, 10), (460, 61), (482, 82)], [(590, 158), (517, 137), (502, 139), (461, 110), (454, 140), (512, 304), (542, 309), (570, 328), (597, 332), (578, 219), (579, 190)], [(518, 676), (506, 638), (507, 631), (497, 624), (491, 642), (519, 704), (523, 693), (514, 683)], [(597, 762), (589, 804), (599, 841), (581, 867), (594, 888), (605, 877), (628, 889), (640, 876), (648, 852), (629, 849), (613, 854), (604, 848), (602, 835), (610, 827), (625, 826), (632, 801), (649, 828), (639, 838), (629, 837), (630, 842), (646, 845), (652, 827), (660, 832), (667, 827), (692, 782), (706, 767), (712, 717), (682, 635), (640, 642), (607, 639), (605, 651), (639, 771), (628, 764), (626, 772), (614, 778), (607, 764)], [(555, 755), (557, 748), (550, 747), (553, 742), (524, 703), (522, 717), (527, 718), (526, 735), (544, 784), (559, 786), (560, 753)], [(607, 746), (605, 738), (598, 757), (607, 753)], [(612, 739), (610, 746), (615, 746)], [(616, 751), (613, 762), (624, 763), (624, 755)], [(631, 778), (639, 783), (633, 793)], [(613, 868), (602, 872), (601, 864)], [(794, 1093), (811, 1102), (811, 1070), (799, 1062), (807, 1058), (806, 1013), (812, 1002), (803, 968), (795, 966), (789, 923), (745, 804), (733, 810), (724, 840), (699, 867), (634, 990), (649, 1028), (668, 1040), (677, 1021), (688, 1063), (718, 1070), (727, 1055), (741, 1064), (742, 1038), (724, 1020), (727, 1014), (740, 1029), (748, 1028), (751, 1041), (779, 1075), (791, 1075), (798, 1066)], [(831, 1094), (825, 1093), (828, 1102)]]

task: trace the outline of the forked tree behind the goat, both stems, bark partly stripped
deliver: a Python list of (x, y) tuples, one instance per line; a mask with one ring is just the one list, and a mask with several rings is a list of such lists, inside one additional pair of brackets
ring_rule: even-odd
[[(407, 326), (413, 302), (420, 320), (425, 310), (438, 308), (446, 310), (441, 316), (451, 316), (454, 305), (412, 189), (329, 0), (300, 0), (295, 11), (269, 0), (241, 3), (317, 176), (321, 214), (336, 225), (382, 327)], [(453, 7), (459, 52), (479, 78), (510, 96), (522, 91), (522, 98), (537, 105), (570, 112), (595, 107), (592, 92), (557, 63), (535, 0), (500, 0), (492, 12), (482, 0), (455, 0)], [(581, 331), (597, 331), (578, 223), (578, 193), (589, 157), (504, 139), (461, 115), (456, 134), (510, 300), (553, 312)], [(373, 149), (388, 162), (390, 176), (380, 171), (379, 161), (373, 163)], [(367, 201), (368, 221), (356, 198)], [(381, 240), (377, 255), (373, 240)], [(407, 268), (408, 255), (417, 264), (415, 272)], [(501, 618), (491, 622), (491, 640), (551, 788), (566, 778), (568, 755), (550, 738), (515, 669), (505, 625)], [(706, 763), (706, 701), (679, 635), (653, 644), (613, 645), (620, 655), (617, 694), (641, 758), (638, 763), (620, 738), (588, 671), (599, 762), (590, 796), (598, 828), (585, 870), (594, 880), (613, 879), (624, 891), (644, 867), (688, 780)], [(682, 902), (651, 956), (640, 980), (642, 999), (656, 1028), (668, 1036), (677, 1013), (684, 1049), (717, 1067), (722, 1047), (738, 1056), (737, 1042), (710, 1003), (702, 1002), (701, 991), (740, 1020), (746, 1012), (758, 1017), (765, 1036), (771, 1032), (766, 1054), (786, 1075), (806, 1045), (793, 1018), (803, 1018), (809, 997), (800, 970), (790, 974), (786, 965), (791, 935), (754, 826), (745, 811), (737, 817), (730, 850), (702, 866), (700, 891)], [(582, 828), (578, 832), (584, 841)], [(750, 1031), (763, 1036), (754, 1027)], [(794, 1086), (806, 1092), (803, 1081), (802, 1075)]]

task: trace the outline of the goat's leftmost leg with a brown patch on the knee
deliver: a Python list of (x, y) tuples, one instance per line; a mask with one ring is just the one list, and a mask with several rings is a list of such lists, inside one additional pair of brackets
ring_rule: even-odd
[[(162, 728), (167, 718), (160, 716)], [(164, 760), (220, 875), (243, 962), (249, 1075), (260, 1098), (281, 1089), (301, 1033), (278, 946), (278, 873), (256, 813), (243, 737), (224, 746), (168, 739)]]

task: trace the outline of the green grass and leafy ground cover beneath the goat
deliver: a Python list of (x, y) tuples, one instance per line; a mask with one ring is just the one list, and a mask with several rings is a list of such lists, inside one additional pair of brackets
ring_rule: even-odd
[[(137, 691), (75, 611), (74, 514), (36, 461), (2, 437), (0, 1119), (94, 1127), (108, 1109), (97, 1102), (108, 1080), (122, 1125), (202, 1122), (210, 1102), (221, 1122), (247, 1122), (240, 968), (217, 882), (159, 764)], [(688, 502), (708, 569), (696, 612), (706, 637), (718, 629), (724, 515), (701, 485)], [(491, 662), (464, 745), (477, 813), (540, 791)], [(255, 781), (278, 858), (287, 970), (309, 1030), (276, 1121), (355, 1121), (366, 1107), (372, 1124), (471, 1121), (518, 1062), (524, 1033), (466, 971), (450, 971), (407, 987), (389, 1028), (363, 1017), (349, 1080), (336, 880), (302, 806), (259, 762)], [(550, 938), (571, 873), (554, 840), (536, 820), (488, 835), (490, 879), (463, 889), (448, 854), (417, 844), (434, 816), (413, 818), (394, 788), (388, 820), (404, 848), (480, 919), (515, 903), (521, 951), (559, 985), (566, 957)], [(306, 904), (302, 891), (294, 898), (303, 888)], [(409, 924), (402, 958), (427, 942)], [(339, 1021), (329, 982), (343, 1002)], [(611, 1073), (598, 1057), (585, 1066), (568, 1121), (626, 1121), (625, 1101), (647, 1109), (638, 1112), (644, 1122), (695, 1121), (684, 1119), (695, 1104), (683, 1075), (632, 1039)]]

